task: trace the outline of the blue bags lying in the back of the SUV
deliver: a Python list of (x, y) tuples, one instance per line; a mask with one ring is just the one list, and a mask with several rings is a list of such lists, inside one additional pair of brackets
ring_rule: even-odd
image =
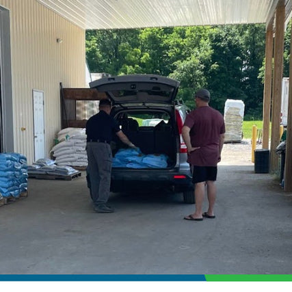
[(142, 154), (139, 148), (120, 149), (113, 158), (113, 168), (167, 168), (168, 156)]

